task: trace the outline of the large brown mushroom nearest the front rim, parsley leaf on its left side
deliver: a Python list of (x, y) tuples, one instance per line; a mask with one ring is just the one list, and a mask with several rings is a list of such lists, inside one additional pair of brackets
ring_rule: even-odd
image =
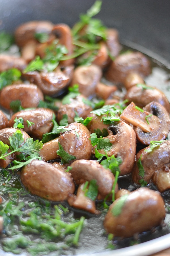
[(163, 223), (165, 203), (159, 192), (142, 187), (116, 199), (104, 220), (107, 233), (128, 238)]

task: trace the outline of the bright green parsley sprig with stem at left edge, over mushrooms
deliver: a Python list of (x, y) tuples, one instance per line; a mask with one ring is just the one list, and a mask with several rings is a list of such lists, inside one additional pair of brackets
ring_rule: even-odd
[[(6, 157), (20, 152), (17, 156), (18, 160), (13, 160), (14, 166), (11, 166), (10, 170), (22, 168), (31, 162), (32, 159), (41, 159), (39, 157), (39, 150), (42, 148), (43, 143), (38, 140), (33, 141), (33, 138), (27, 138), (24, 142), (22, 132), (17, 130), (12, 136), (9, 136), (10, 146), (0, 141), (0, 159), (6, 160)], [(11, 151), (8, 153), (8, 149)]]

